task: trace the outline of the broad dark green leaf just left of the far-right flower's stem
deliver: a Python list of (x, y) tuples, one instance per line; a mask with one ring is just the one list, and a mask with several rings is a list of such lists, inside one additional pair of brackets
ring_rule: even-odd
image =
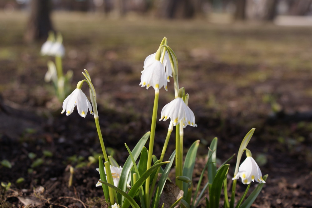
[(223, 181), (224, 178), (227, 177), (229, 166), (229, 164), (223, 165), (217, 172), (216, 177), (213, 179), (211, 189), (209, 190), (210, 207), (219, 207)]

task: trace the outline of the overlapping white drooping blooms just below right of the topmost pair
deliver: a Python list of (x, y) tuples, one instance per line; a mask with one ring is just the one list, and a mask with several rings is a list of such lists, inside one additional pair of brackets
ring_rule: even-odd
[(186, 126), (197, 127), (195, 124), (195, 116), (193, 111), (184, 103), (183, 99), (177, 97), (161, 110), (161, 121), (166, 121), (168, 118), (171, 118), (173, 125), (176, 126), (181, 121), (183, 122), (183, 128)]

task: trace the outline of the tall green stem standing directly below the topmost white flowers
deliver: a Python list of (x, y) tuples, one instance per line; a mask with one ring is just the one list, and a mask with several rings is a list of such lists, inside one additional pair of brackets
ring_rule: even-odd
[[(148, 157), (147, 157), (146, 170), (148, 170), (152, 165), (152, 156), (153, 156), (153, 148), (154, 148), (155, 129), (156, 129), (156, 119), (157, 119), (157, 109), (158, 109), (158, 98), (159, 98), (159, 90), (155, 90), (151, 134), (149, 137), (149, 153), (148, 153)], [(149, 201), (149, 180), (150, 180), (150, 177), (148, 177), (145, 181), (145, 202), (146, 202), (147, 207), (149, 207), (149, 204), (150, 204), (150, 201)]]

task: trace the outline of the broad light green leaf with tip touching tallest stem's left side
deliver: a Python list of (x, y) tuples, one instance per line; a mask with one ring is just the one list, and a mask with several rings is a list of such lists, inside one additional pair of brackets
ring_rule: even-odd
[[(132, 150), (132, 155), (133, 155), (135, 160), (138, 159), (138, 157), (142, 151), (143, 146), (145, 145), (146, 141), (149, 139), (149, 135), (150, 135), (150, 132), (147, 132), (140, 139), (140, 141), (136, 144), (136, 146)], [(128, 182), (128, 175), (129, 175), (129, 172), (130, 172), (132, 166), (133, 166), (133, 164), (132, 164), (131, 157), (128, 156), (126, 162), (124, 163), (124, 167), (122, 168), (122, 171), (121, 171), (121, 175), (120, 175), (120, 179), (119, 179), (119, 183), (118, 183), (119, 189), (124, 190), (124, 191), (126, 190), (127, 182)], [(123, 203), (123, 195), (120, 194), (119, 192), (117, 194), (117, 199), (118, 199), (117, 201), (119, 201), (119, 203), (120, 203), (119, 205), (121, 206)]]

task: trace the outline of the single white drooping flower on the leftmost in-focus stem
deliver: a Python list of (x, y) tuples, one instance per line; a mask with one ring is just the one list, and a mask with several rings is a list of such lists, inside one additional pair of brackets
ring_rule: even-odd
[(85, 93), (82, 92), (81, 89), (76, 88), (63, 102), (63, 110), (61, 113), (66, 112), (66, 116), (70, 115), (73, 111), (75, 106), (77, 105), (77, 111), (80, 114), (80, 116), (84, 117), (86, 116), (86, 113), (88, 113), (88, 109), (91, 114), (92, 112), (92, 106), (87, 98), (85, 96)]

